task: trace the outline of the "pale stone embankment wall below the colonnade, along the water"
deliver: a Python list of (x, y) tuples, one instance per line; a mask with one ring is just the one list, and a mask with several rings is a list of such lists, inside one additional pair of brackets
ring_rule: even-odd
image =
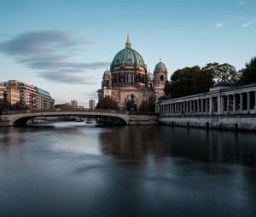
[(256, 132), (256, 116), (159, 117), (160, 125)]

